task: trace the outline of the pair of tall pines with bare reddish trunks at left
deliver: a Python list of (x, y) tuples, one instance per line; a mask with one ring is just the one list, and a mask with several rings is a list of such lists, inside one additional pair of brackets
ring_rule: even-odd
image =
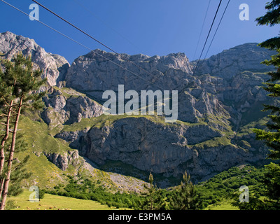
[[(0, 71), (0, 118), (4, 130), (1, 133), (0, 151), (0, 210), (5, 209), (8, 195), (20, 115), (24, 109), (41, 109), (41, 98), (45, 94), (38, 91), (45, 79), (41, 79), (42, 71), (34, 68), (31, 57), (19, 53), (13, 62), (3, 60), (2, 64), (4, 69)], [(10, 135), (10, 145), (6, 146)], [(6, 168), (5, 148), (8, 148)]]

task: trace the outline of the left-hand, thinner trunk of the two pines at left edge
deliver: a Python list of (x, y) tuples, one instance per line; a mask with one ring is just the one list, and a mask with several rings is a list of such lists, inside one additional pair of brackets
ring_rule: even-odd
[[(8, 113), (7, 113), (7, 117), (6, 117), (6, 133), (1, 141), (0, 175), (3, 174), (3, 167), (4, 167), (4, 163), (5, 163), (4, 147), (5, 147), (6, 141), (9, 136), (9, 132), (10, 132), (10, 113), (12, 111), (12, 108), (13, 108), (13, 100), (10, 102), (10, 105), (8, 105)], [(4, 182), (4, 178), (1, 178), (0, 179), (0, 200), (1, 200), (1, 195), (2, 195), (2, 191), (3, 191), (3, 182)]]

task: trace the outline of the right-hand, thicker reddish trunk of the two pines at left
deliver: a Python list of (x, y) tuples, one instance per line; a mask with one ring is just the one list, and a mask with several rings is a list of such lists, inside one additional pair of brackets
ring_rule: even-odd
[(6, 205), (6, 198), (8, 195), (8, 185), (10, 183), (10, 173), (12, 171), (12, 165), (13, 165), (13, 155), (15, 153), (15, 138), (16, 138), (17, 130), (18, 130), (18, 122), (20, 120), (20, 111), (22, 109), (22, 100), (23, 100), (23, 96), (20, 97), (20, 103), (18, 104), (18, 110), (17, 110), (16, 119), (15, 119), (15, 127), (13, 129), (12, 143), (10, 145), (10, 155), (8, 158), (8, 171), (6, 174), (6, 179), (4, 181), (3, 192), (2, 192), (3, 198), (2, 198), (2, 201), (0, 204), (0, 210), (4, 210), (5, 205)]

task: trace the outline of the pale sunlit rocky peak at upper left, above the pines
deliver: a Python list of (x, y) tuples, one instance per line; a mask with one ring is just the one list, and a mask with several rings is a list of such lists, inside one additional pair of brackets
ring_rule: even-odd
[(6, 59), (12, 59), (18, 52), (30, 55), (32, 62), (43, 69), (42, 78), (48, 78), (49, 85), (56, 85), (57, 78), (64, 77), (70, 66), (64, 57), (45, 52), (34, 40), (15, 35), (10, 31), (0, 34), (0, 52)]

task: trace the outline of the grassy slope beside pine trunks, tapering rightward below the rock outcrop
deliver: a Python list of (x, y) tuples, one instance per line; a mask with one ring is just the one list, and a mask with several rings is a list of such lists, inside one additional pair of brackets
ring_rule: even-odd
[[(118, 184), (111, 180), (111, 176), (118, 176), (118, 174), (112, 174), (111, 172), (104, 172), (101, 169), (89, 167), (85, 164), (83, 158), (79, 158), (80, 165), (69, 167), (62, 171), (56, 165), (46, 158), (44, 153), (64, 153), (67, 151), (73, 151), (69, 147), (69, 143), (62, 139), (53, 137), (54, 130), (49, 130), (48, 125), (42, 122), (31, 120), (22, 116), (19, 125), (19, 132), (23, 133), (23, 139), (27, 142), (27, 151), (18, 153), (16, 158), (24, 158), (29, 154), (30, 159), (27, 162), (26, 168), (31, 172), (31, 177), (24, 180), (22, 185), (29, 187), (36, 185), (39, 188), (52, 189), (58, 184), (66, 185), (69, 183), (69, 177), (75, 177), (75, 179), (83, 180), (90, 179), (94, 183), (99, 183), (99, 186), (104, 186), (113, 192), (118, 190)], [(118, 176), (118, 179), (122, 181), (126, 179), (125, 176)], [(136, 182), (135, 182), (136, 181)], [(138, 183), (137, 179), (132, 179), (131, 183)], [(125, 189), (124, 189), (125, 190)]]

